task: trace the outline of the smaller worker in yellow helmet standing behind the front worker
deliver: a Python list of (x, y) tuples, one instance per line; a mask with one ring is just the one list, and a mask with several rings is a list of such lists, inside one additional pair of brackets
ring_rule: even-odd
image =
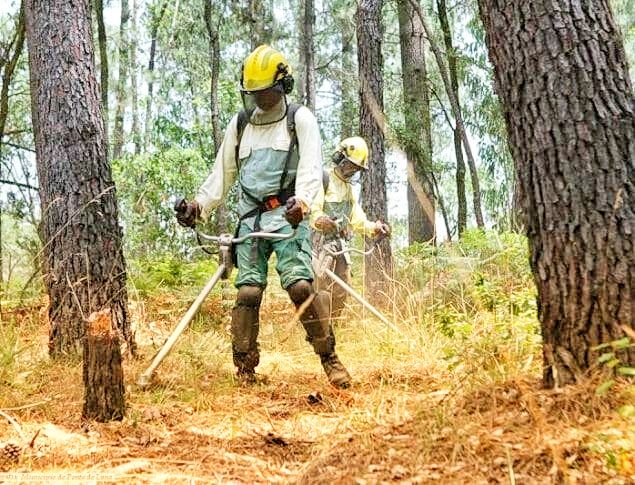
[[(333, 154), (332, 166), (324, 172), (323, 184), (311, 205), (314, 267), (318, 273), (316, 286), (326, 292), (330, 301), (331, 318), (338, 318), (344, 308), (346, 291), (335, 285), (328, 276), (320, 274), (326, 265), (346, 283), (350, 282), (349, 260), (344, 254), (331, 256), (325, 251), (329, 244), (341, 251), (340, 239), (350, 240), (352, 233), (383, 237), (390, 235), (390, 227), (382, 221), (369, 221), (359, 205), (351, 184), (354, 176), (368, 167), (368, 145), (354, 136), (342, 140)], [(339, 244), (339, 246), (338, 246)]]

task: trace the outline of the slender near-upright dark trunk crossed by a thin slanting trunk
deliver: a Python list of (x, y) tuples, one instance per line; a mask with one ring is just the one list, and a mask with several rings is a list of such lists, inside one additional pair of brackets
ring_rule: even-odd
[[(448, 69), (450, 71), (450, 85), (454, 92), (454, 97), (459, 107), (459, 73), (456, 62), (456, 51), (452, 42), (452, 31), (448, 20), (448, 11), (445, 0), (437, 0), (437, 10), (439, 23), (443, 31), (443, 43), (448, 57)], [(465, 161), (463, 160), (463, 149), (461, 147), (461, 134), (457, 129), (454, 132), (454, 153), (456, 154), (456, 197), (457, 197), (457, 218), (456, 224), (459, 238), (467, 228), (467, 199), (465, 197)]]

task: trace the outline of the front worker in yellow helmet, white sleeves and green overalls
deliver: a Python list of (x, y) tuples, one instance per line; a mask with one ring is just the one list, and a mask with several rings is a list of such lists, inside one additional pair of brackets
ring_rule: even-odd
[(255, 381), (260, 360), (259, 309), (268, 261), (275, 252), (280, 283), (296, 307), (303, 307), (311, 298), (300, 320), (329, 381), (348, 387), (350, 375), (335, 353), (335, 339), (329, 331), (328, 302), (313, 295), (306, 216), (321, 186), (317, 121), (309, 109), (289, 102), (291, 67), (280, 52), (267, 45), (245, 59), (240, 87), (244, 109), (230, 121), (212, 173), (185, 210), (180, 207), (177, 219), (193, 227), (225, 200), (238, 181), (238, 236), (253, 231), (288, 234), (297, 227), (291, 239), (248, 239), (235, 247), (238, 295), (231, 330), (238, 377), (243, 382)]

